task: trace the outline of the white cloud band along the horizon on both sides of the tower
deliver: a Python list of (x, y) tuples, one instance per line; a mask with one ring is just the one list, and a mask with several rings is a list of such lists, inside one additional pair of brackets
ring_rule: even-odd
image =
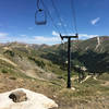
[[(20, 43), (26, 43), (26, 44), (47, 44), (47, 45), (55, 45), (55, 44), (60, 44), (61, 38), (59, 34), (55, 31), (52, 31), (52, 37), (47, 37), (47, 36), (26, 36), (26, 35), (21, 35), (24, 37), (17, 37), (17, 36), (10, 36), (7, 33), (0, 33), (0, 43), (11, 43), (11, 41), (20, 41)], [(69, 35), (74, 35), (73, 33)], [(25, 37), (26, 36), (26, 37)], [(88, 39), (93, 37), (97, 37), (98, 35), (88, 35), (88, 34), (78, 34), (78, 39)], [(66, 41), (64, 39), (64, 41)]]

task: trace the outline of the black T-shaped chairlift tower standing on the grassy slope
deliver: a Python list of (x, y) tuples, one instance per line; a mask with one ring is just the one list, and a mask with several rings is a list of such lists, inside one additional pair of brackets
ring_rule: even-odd
[(61, 39), (68, 38), (68, 88), (71, 88), (71, 38), (78, 38), (78, 35), (75, 36), (62, 36)]

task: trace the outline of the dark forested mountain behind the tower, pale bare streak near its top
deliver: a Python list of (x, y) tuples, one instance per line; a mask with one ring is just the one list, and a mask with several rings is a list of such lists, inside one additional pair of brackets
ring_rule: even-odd
[[(62, 65), (66, 61), (66, 43), (44, 49), (41, 58)], [(109, 71), (109, 37), (95, 37), (87, 40), (72, 41), (72, 68), (85, 66), (90, 73), (105, 73)]]

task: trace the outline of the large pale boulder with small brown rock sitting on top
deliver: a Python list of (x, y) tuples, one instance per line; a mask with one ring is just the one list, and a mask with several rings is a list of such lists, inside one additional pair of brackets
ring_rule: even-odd
[(0, 94), (0, 109), (50, 109), (57, 107), (58, 105), (45, 95), (24, 88)]

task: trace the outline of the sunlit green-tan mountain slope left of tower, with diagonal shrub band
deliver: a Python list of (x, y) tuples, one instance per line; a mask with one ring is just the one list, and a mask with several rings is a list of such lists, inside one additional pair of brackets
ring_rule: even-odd
[(27, 47), (26, 45), (22, 44), (13, 43), (3, 46), (0, 49), (0, 55), (4, 59), (10, 60), (11, 63), (13, 62), (16, 64), (16, 66), (13, 66), (13, 64), (8, 66), (10, 65), (10, 62), (0, 59), (1, 64), (2, 61), (4, 62), (4, 64), (1, 65), (1, 70), (4, 68), (8, 71), (8, 69), (12, 70), (11, 68), (13, 68), (13, 70), (16, 72), (29, 73), (28, 71), (33, 71), (34, 74), (43, 78), (46, 76), (48, 78), (49, 74), (56, 74), (56, 76), (64, 75), (64, 71), (62, 71), (59, 65), (53, 64), (49, 60), (40, 58), (39, 53), (43, 52), (35, 50), (31, 46)]

